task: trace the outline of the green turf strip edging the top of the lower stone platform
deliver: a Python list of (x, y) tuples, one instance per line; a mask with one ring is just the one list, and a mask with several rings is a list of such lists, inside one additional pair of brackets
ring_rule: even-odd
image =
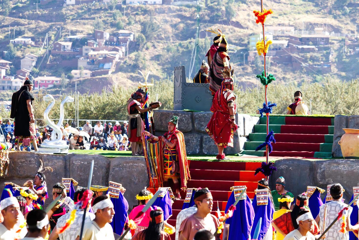
[[(131, 151), (103, 151), (103, 150), (69, 150), (69, 153), (74, 154), (99, 154), (104, 157), (108, 158), (115, 158), (115, 157), (131, 157)], [(264, 158), (251, 158), (251, 157), (239, 157), (237, 155), (227, 155), (229, 160), (222, 160), (222, 162), (263, 162), (265, 161)], [(187, 155), (189, 160), (194, 161), (217, 161), (216, 155), (199, 155), (199, 154), (190, 154)], [(275, 159), (271, 160), (270, 162), (275, 161)]]

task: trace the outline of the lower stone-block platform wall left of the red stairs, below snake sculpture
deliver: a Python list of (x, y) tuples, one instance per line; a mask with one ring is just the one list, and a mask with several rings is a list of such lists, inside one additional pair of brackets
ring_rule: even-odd
[[(40, 166), (40, 159), (45, 167), (53, 168), (52, 173), (45, 173), (46, 184), (50, 191), (53, 185), (61, 182), (62, 177), (72, 177), (79, 182), (79, 186), (87, 187), (92, 159), (94, 159), (92, 185), (108, 186), (108, 181), (122, 184), (126, 189), (124, 196), (131, 207), (137, 205), (136, 194), (149, 186), (146, 162), (143, 157), (107, 158), (102, 155), (52, 155), (11, 151), (9, 158), (9, 175), (1, 177), (1, 190), (4, 182), (14, 182), (22, 186), (25, 181), (33, 180)], [(52, 199), (51, 193), (49, 197)], [(50, 204), (51, 201), (48, 200), (46, 203)]]

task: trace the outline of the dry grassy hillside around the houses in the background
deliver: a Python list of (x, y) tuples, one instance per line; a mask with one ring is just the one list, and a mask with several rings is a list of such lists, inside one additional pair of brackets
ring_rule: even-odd
[[(243, 55), (241, 50), (247, 51), (249, 36), (253, 33), (260, 33), (261, 26), (255, 23), (253, 10), (259, 10), (259, 1), (254, 0), (229, 0), (234, 9), (235, 16), (228, 21), (226, 19), (226, 8), (228, 0), (206, 0), (202, 3), (200, 11), (201, 39), (200, 46), (202, 58), (211, 45), (213, 35), (204, 30), (209, 27), (220, 28), (226, 35), (229, 42), (229, 54), (231, 62), (236, 71), (237, 81), (243, 87), (256, 86), (258, 81), (255, 75), (258, 69), (253, 65), (243, 66)], [(355, 24), (358, 24), (358, 7), (355, 0), (347, 1), (345, 6), (348, 13), (343, 13), (338, 5), (339, 0), (318, 3), (317, 1), (304, 0), (265, 0), (264, 8), (271, 8), (274, 14), (267, 18), (266, 26), (294, 26), (296, 30), (313, 30), (314, 27), (324, 27), (328, 32), (345, 32), (354, 35)], [(6, 50), (9, 42), (8, 32), (13, 31), (13, 26), (24, 29), (23, 34), (17, 37), (27, 36), (35, 39), (43, 39), (46, 33), (51, 37), (55, 36), (56, 31), (61, 26), (61, 39), (69, 35), (93, 33), (94, 23), (97, 19), (103, 22), (103, 29), (108, 32), (117, 30), (116, 23), (121, 21), (124, 29), (135, 32), (136, 35), (144, 33), (144, 25), (149, 22), (155, 23), (155, 31), (147, 32), (148, 39), (142, 51), (139, 52), (139, 44), (134, 44), (130, 49), (129, 59), (123, 59), (123, 63), (112, 76), (92, 78), (82, 80), (97, 84), (95, 91), (100, 91), (98, 86), (133, 86), (134, 82), (141, 81), (141, 76), (137, 69), (148, 68), (151, 70), (151, 77), (154, 80), (171, 79), (173, 67), (185, 65), (187, 75), (191, 59), (192, 47), (196, 34), (196, 8), (193, 6), (126, 6), (125, 11), (118, 5), (115, 12), (112, 6), (95, 2), (92, 5), (75, 5), (63, 7), (63, 1), (53, 0), (45, 5), (38, 5), (31, 0), (10, 0), (12, 9), (9, 16), (3, 18), (0, 24), (0, 50)], [(56, 7), (56, 8), (55, 8)], [(43, 10), (45, 9), (45, 10)], [(120, 12), (120, 14), (118, 14)], [(117, 15), (116, 15), (116, 14)], [(123, 16), (125, 13), (125, 16)], [(116, 16), (115, 16), (116, 15)], [(353, 68), (353, 61), (358, 63), (358, 59), (345, 60), (340, 56), (342, 46), (341, 39), (331, 38), (331, 49), (335, 51), (334, 72), (331, 76), (341, 80), (350, 80), (358, 77), (359, 70)], [(237, 50), (237, 53), (235, 51)], [(19, 60), (26, 53), (43, 54), (37, 52), (38, 49), (22, 48), (17, 49), (17, 59)], [(350, 62), (351, 64), (349, 64)], [(198, 63), (199, 64), (199, 63)], [(40, 69), (40, 73), (46, 69)], [(49, 71), (50, 74), (59, 76), (61, 71), (67, 74), (71, 69), (57, 69), (56, 72)], [(197, 71), (197, 70), (196, 70)], [(305, 71), (293, 71), (283, 67), (270, 67), (269, 72), (275, 73), (277, 82), (298, 82), (320, 81), (324, 74), (314, 74)], [(192, 77), (193, 77), (192, 73)], [(188, 76), (187, 76), (188, 77)], [(278, 83), (277, 83), (278, 84)], [(67, 86), (71, 91), (73, 83)], [(84, 87), (83, 89), (85, 89)], [(81, 87), (80, 87), (81, 89)], [(92, 90), (89, 90), (92, 91)]]

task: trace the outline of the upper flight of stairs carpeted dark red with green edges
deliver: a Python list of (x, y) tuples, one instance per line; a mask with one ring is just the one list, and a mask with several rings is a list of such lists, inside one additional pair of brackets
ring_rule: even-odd
[[(269, 131), (274, 131), (273, 157), (330, 158), (333, 145), (334, 117), (270, 116)], [(266, 139), (266, 117), (254, 126), (242, 154), (263, 157), (265, 151), (255, 151)], [(265, 148), (264, 148), (265, 149)]]

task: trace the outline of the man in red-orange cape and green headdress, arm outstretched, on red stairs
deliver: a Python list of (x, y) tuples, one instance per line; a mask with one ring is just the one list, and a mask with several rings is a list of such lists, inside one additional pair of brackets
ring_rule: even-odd
[(168, 132), (161, 137), (144, 131), (150, 137), (149, 141), (158, 142), (163, 154), (159, 154), (160, 166), (163, 169), (163, 180), (165, 187), (171, 187), (174, 198), (181, 199), (180, 191), (187, 188), (187, 181), (191, 179), (190, 169), (187, 162), (185, 137), (177, 130), (178, 117), (173, 116), (168, 121)]

